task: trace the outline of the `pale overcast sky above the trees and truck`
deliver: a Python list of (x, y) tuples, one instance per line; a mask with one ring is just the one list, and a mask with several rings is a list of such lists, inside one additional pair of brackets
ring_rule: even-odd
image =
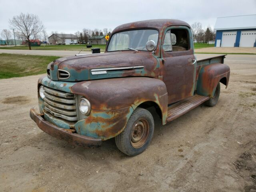
[(114, 29), (148, 19), (179, 19), (214, 28), (217, 17), (256, 14), (256, 0), (0, 0), (0, 32), (21, 12), (36, 14), (46, 31)]

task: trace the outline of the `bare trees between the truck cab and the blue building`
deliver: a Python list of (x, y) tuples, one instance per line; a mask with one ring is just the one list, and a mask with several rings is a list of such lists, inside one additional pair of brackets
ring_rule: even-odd
[(216, 32), (214, 32), (210, 26), (208, 26), (206, 29), (203, 29), (200, 22), (194, 22), (191, 25), (191, 28), (194, 42), (196, 40), (196, 42), (199, 43), (209, 44), (209, 41), (215, 40)]

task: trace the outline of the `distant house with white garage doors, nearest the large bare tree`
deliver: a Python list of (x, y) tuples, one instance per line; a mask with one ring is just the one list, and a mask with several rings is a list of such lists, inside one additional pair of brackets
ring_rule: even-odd
[(54, 33), (50, 37), (48, 37), (48, 41), (51, 45), (56, 45), (60, 42), (65, 42), (66, 44), (70, 44), (71, 42), (77, 42), (78, 37), (74, 34), (59, 34)]

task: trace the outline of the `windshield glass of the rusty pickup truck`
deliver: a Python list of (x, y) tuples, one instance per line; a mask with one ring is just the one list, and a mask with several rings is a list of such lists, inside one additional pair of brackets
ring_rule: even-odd
[(158, 30), (139, 29), (116, 33), (110, 39), (108, 51), (118, 50), (142, 50), (146, 51), (146, 42), (153, 40), (158, 42)]

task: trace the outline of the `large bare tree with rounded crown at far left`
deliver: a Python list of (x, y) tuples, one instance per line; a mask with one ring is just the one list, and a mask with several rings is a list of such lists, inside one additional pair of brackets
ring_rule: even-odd
[(29, 50), (31, 50), (30, 38), (42, 32), (44, 25), (37, 15), (23, 14), (14, 16), (12, 20), (9, 20), (11, 26), (16, 28), (28, 41)]

